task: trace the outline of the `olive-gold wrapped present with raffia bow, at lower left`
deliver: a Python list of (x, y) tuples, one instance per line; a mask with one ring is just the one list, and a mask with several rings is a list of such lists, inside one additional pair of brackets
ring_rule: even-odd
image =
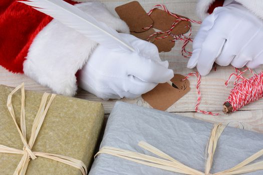
[(100, 102), (0, 85), (0, 174), (86, 174), (103, 116)]

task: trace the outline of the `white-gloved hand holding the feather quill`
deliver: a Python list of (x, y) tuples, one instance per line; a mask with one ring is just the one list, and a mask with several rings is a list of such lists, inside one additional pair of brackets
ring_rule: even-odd
[(138, 50), (116, 52), (99, 44), (80, 71), (81, 88), (103, 99), (135, 98), (173, 77), (168, 61), (161, 61), (153, 43), (120, 35)]

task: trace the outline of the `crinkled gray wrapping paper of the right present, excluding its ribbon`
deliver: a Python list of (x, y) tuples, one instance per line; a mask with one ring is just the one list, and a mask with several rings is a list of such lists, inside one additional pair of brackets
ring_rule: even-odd
[[(212, 116), (211, 116), (212, 117)], [(103, 146), (113, 146), (157, 156), (140, 146), (143, 140), (185, 165), (204, 172), (205, 148), (213, 124), (134, 104), (116, 102), (109, 116)], [(263, 134), (226, 127), (222, 132), (211, 173), (231, 168), (263, 148)], [(259, 157), (253, 162), (263, 160)], [(99, 154), (89, 175), (180, 174), (108, 154)], [(263, 174), (263, 170), (246, 174)]]

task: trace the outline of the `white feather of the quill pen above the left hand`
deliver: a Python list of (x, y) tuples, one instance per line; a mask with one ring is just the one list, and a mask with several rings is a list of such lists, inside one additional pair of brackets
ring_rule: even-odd
[(123, 52), (135, 51), (129, 41), (103, 22), (83, 12), (63, 0), (28, 0), (19, 1), (46, 13), (61, 23), (76, 29), (90, 39), (103, 44), (106, 48)]

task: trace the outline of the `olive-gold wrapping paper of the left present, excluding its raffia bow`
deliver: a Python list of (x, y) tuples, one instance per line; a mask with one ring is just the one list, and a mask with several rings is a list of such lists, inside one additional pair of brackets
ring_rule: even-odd
[[(0, 85), (0, 144), (23, 149), (23, 143), (7, 108), (13, 87)], [(43, 93), (25, 92), (27, 140)], [(13, 95), (16, 119), (20, 125), (21, 91)], [(82, 160), (88, 167), (103, 123), (104, 110), (100, 102), (57, 95), (53, 100), (32, 151), (70, 156)], [(0, 153), (0, 174), (13, 174), (22, 155)], [(29, 162), (31, 174), (81, 174), (78, 168), (56, 160), (38, 157)]]

